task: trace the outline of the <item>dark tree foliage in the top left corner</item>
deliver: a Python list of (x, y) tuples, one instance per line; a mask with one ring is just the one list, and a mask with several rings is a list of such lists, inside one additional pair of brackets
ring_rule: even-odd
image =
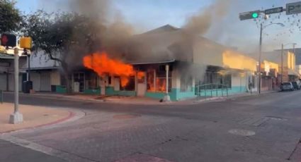
[(0, 0), (0, 33), (15, 32), (22, 23), (22, 15), (15, 1)]

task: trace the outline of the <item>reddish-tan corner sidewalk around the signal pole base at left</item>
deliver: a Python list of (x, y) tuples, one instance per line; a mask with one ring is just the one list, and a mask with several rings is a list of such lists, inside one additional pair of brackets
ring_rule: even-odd
[(52, 125), (73, 116), (69, 111), (42, 106), (19, 105), (19, 111), (23, 114), (23, 123), (9, 124), (8, 119), (13, 113), (13, 104), (0, 104), (0, 133)]

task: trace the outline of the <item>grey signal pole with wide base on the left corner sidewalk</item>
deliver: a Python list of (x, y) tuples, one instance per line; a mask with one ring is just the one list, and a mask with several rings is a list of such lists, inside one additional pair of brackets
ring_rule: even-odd
[(19, 49), (16, 47), (15, 49), (13, 49), (13, 54), (15, 55), (15, 59), (14, 59), (14, 91), (15, 91), (15, 104), (14, 104), (14, 111), (11, 114), (11, 116), (9, 116), (9, 123), (11, 124), (16, 124), (16, 123), (21, 123), (23, 122), (23, 115), (21, 113), (19, 113), (19, 55), (18, 52)]

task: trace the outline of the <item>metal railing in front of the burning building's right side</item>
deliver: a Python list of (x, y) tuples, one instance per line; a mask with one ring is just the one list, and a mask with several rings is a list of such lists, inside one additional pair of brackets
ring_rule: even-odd
[[(227, 85), (222, 84), (205, 84), (205, 85), (195, 85), (195, 95), (196, 96), (228, 96)], [(220, 92), (220, 93), (219, 93)]]

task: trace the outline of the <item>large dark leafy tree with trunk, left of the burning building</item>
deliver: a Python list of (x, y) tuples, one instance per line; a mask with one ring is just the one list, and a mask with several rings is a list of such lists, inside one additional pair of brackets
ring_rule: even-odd
[(22, 31), (33, 38), (33, 52), (44, 51), (60, 63), (70, 93), (70, 73), (82, 66), (84, 55), (101, 48), (103, 29), (97, 21), (77, 13), (37, 11), (26, 16)]

